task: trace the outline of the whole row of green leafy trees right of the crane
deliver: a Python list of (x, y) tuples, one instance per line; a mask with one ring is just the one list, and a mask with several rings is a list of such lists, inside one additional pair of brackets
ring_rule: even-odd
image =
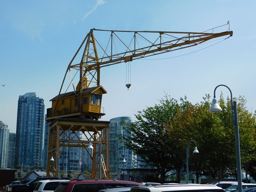
[[(249, 167), (256, 167), (255, 112), (248, 112), (244, 97), (233, 100), (238, 102), (242, 168), (249, 173)], [(123, 127), (131, 133), (123, 138), (127, 148), (148, 166), (156, 168), (162, 182), (170, 170), (176, 182), (180, 182), (186, 174), (186, 147), (190, 140), (195, 140), (199, 153), (190, 153), (189, 171), (196, 174), (197, 182), (201, 175), (216, 178), (217, 172), (223, 177), (236, 177), (235, 135), (229, 98), (225, 101), (221, 94), (221, 113), (208, 112), (210, 95), (197, 104), (190, 103), (186, 96), (180, 98), (180, 102), (168, 95), (158, 101), (153, 107), (138, 111), (134, 123), (123, 122)]]

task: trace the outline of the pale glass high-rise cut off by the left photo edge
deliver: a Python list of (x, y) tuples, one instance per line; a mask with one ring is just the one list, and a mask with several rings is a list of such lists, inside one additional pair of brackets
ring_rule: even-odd
[(7, 168), (9, 147), (9, 129), (8, 125), (0, 121), (0, 165)]

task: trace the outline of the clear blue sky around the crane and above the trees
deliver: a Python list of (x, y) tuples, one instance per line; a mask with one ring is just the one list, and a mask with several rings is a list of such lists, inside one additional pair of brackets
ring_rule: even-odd
[[(6, 84), (0, 86), (0, 120), (16, 132), (18, 97), (28, 92), (51, 107), (49, 100), (58, 94), (68, 64), (91, 28), (203, 32), (228, 20), (233, 36), (212, 41), (208, 48), (131, 62), (129, 90), (126, 64), (102, 68), (101, 85), (108, 92), (102, 120), (135, 119), (134, 114), (165, 94), (177, 100), (186, 95), (196, 104), (205, 94), (213, 96), (219, 84), (227, 85), (234, 97), (244, 96), (254, 112), (255, 7), (254, 0), (0, 0), (0, 84)], [(219, 87), (217, 97), (221, 91), (230, 96)]]

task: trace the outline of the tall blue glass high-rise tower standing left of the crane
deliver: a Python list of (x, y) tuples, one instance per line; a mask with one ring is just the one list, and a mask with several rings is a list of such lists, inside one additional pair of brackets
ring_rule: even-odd
[(19, 96), (15, 166), (42, 166), (44, 100), (35, 92)]

